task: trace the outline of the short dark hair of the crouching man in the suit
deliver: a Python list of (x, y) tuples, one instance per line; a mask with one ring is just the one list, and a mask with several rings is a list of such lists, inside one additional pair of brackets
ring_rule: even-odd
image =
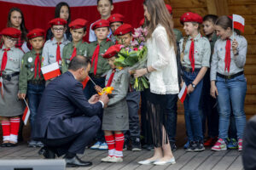
[(71, 60), (70, 64), (68, 65), (68, 70), (77, 71), (80, 68), (86, 69), (87, 66), (90, 64), (91, 62), (89, 58), (86, 58), (82, 55), (77, 55)]

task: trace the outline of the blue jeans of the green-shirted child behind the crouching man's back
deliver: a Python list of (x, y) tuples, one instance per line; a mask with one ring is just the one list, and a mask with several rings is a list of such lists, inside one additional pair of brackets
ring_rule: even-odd
[(42, 94), (44, 92), (45, 85), (34, 85), (31, 83), (27, 84), (27, 92), (26, 96), (28, 99), (28, 106), (30, 109), (30, 126), (31, 130), (33, 129), (34, 125), (34, 120), (36, 117), (36, 114), (38, 113), (38, 105), (40, 103)]

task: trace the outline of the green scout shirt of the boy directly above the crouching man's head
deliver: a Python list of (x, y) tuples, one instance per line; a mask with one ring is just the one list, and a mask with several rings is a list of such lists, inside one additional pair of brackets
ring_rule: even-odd
[[(82, 55), (84, 57), (87, 56), (87, 46), (89, 44), (87, 42), (83, 42), (82, 40), (78, 42), (76, 45), (77, 52), (76, 55)], [(70, 63), (70, 59), (73, 54), (73, 42), (69, 42), (64, 48), (63, 48), (63, 53), (62, 53), (62, 73), (66, 72), (68, 70), (68, 65)]]

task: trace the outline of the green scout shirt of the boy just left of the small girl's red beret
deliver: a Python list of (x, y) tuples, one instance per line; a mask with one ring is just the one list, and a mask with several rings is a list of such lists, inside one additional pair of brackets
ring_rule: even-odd
[[(107, 71), (110, 70), (110, 65), (108, 65), (108, 59), (104, 59), (102, 57), (102, 54), (105, 54), (107, 49), (109, 47), (111, 47), (114, 43), (111, 42), (111, 40), (109, 39), (105, 39), (100, 43), (100, 52), (98, 55), (98, 62), (97, 62), (97, 71), (96, 71), (96, 77), (101, 77), (102, 74), (106, 73)], [(88, 53), (87, 56), (88, 57), (92, 57), (96, 46), (98, 45), (98, 42), (90, 42), (90, 44), (88, 45)], [(95, 63), (95, 60), (94, 60)], [(94, 64), (93, 62), (91, 63), (91, 68), (90, 68), (90, 73), (94, 73)]]

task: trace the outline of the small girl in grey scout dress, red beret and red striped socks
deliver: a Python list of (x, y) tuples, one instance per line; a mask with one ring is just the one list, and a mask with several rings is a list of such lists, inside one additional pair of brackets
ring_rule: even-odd
[[(128, 107), (126, 94), (129, 88), (129, 73), (127, 70), (119, 70), (115, 67), (114, 59), (121, 45), (114, 45), (108, 48), (103, 55), (108, 59), (112, 70), (108, 71), (105, 85), (113, 87), (113, 98), (109, 99), (108, 107), (104, 109), (102, 119), (102, 130), (105, 133), (105, 139), (108, 143), (108, 156), (102, 158), (102, 161), (120, 162), (123, 161), (123, 145), (125, 142), (123, 131), (129, 129)], [(97, 87), (98, 91), (101, 91)]]

